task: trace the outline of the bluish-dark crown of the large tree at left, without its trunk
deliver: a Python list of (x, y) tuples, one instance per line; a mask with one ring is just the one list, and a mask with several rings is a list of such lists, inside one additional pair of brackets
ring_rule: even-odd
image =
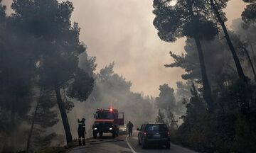
[[(74, 90), (78, 89), (73, 83), (75, 79), (83, 78), (90, 81), (84, 82), (84, 86), (89, 83), (90, 88), (88, 87), (83, 93), (90, 93), (93, 81), (85, 73), (91, 74), (94, 67), (90, 72), (82, 72), (83, 70), (78, 68), (78, 56), (82, 53), (86, 54), (86, 47), (79, 40), (78, 23), (73, 23), (72, 26), (70, 21), (73, 4), (70, 1), (59, 3), (55, 0), (16, 0), (11, 8), (15, 11), (14, 16), (21, 30), (36, 38), (40, 37), (36, 45), (48, 46), (36, 52), (40, 57), (37, 63), (41, 86), (46, 89), (54, 86), (65, 89), (69, 84), (73, 84)], [(91, 62), (94, 61), (91, 60)], [(81, 78), (79, 75), (82, 75)], [(75, 92), (72, 93), (75, 94)], [(85, 95), (85, 97), (88, 96), (88, 94)], [(78, 95), (72, 97), (75, 96)]]

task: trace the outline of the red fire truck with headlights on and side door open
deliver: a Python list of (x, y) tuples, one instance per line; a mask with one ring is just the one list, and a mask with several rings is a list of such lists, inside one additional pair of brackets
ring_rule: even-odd
[(119, 113), (117, 109), (97, 109), (95, 115), (95, 123), (92, 126), (93, 138), (97, 138), (99, 133), (102, 137), (103, 133), (110, 132), (112, 137), (119, 134), (119, 125), (124, 125), (124, 113)]

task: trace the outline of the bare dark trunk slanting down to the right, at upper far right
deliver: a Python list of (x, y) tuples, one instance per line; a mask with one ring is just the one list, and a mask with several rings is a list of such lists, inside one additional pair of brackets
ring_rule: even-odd
[(221, 18), (220, 12), (219, 12), (217, 6), (215, 6), (215, 3), (213, 2), (213, 0), (210, 0), (210, 5), (213, 7), (213, 11), (214, 11), (215, 15), (218, 18), (220, 26), (223, 28), (223, 32), (225, 34), (225, 38), (226, 38), (226, 40), (228, 42), (228, 47), (230, 48), (230, 51), (231, 51), (231, 53), (233, 55), (233, 59), (235, 61), (235, 67), (236, 67), (236, 69), (238, 71), (238, 75), (239, 75), (240, 79), (243, 79), (244, 81), (247, 81), (247, 78), (245, 77), (245, 74), (244, 74), (244, 72), (242, 70), (242, 66), (240, 64), (240, 60), (238, 58), (237, 53), (235, 52), (235, 47), (234, 47), (234, 45), (233, 45), (233, 43), (232, 43), (232, 41), (230, 39), (230, 35), (228, 34), (228, 30), (227, 30), (227, 28), (225, 26), (223, 18)]

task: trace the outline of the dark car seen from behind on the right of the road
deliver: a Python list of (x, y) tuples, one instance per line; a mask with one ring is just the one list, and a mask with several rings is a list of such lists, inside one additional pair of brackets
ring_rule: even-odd
[(139, 130), (138, 141), (142, 149), (146, 149), (149, 145), (165, 145), (170, 149), (170, 132), (165, 124), (144, 123), (137, 130)]

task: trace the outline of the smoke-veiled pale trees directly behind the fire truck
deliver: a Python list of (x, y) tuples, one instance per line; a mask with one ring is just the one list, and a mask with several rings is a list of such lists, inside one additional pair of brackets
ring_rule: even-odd
[(154, 98), (134, 93), (130, 90), (132, 83), (113, 72), (114, 64), (106, 66), (95, 75), (95, 87), (87, 101), (74, 101), (75, 107), (68, 114), (73, 137), (77, 137), (77, 120), (85, 118), (87, 137), (92, 135), (94, 114), (97, 108), (113, 107), (124, 113), (124, 126), (128, 121), (139, 128), (142, 123), (154, 123), (156, 109)]

